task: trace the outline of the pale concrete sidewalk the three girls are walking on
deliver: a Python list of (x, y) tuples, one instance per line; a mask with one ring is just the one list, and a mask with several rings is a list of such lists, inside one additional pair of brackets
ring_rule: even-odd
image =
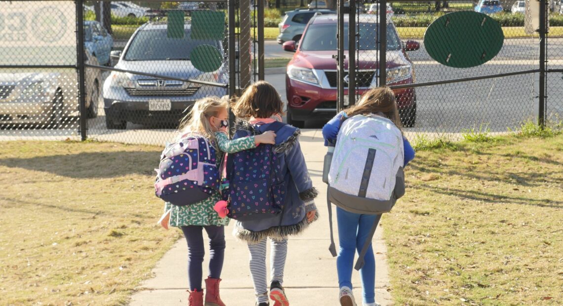
[[(313, 184), (319, 190), (316, 205), (321, 217), (303, 235), (289, 239), (284, 275), (285, 293), (292, 306), (338, 305), (336, 258), (333, 258), (328, 251), (330, 236), (325, 196), (327, 187), (321, 181), (323, 158), (326, 150), (323, 146), (320, 130), (303, 131), (300, 143)], [(334, 205), (332, 209), (334, 235), (335, 240), (338, 241)], [(244, 242), (235, 240), (233, 237), (233, 225), (234, 222), (231, 222), (225, 229), (227, 247), (221, 276), (223, 280), (221, 282), (221, 298), (229, 306), (251, 306), (254, 305), (254, 290), (248, 268), (248, 249)], [(385, 222), (383, 226), (385, 226)], [(172, 228), (172, 230), (177, 229)], [(377, 266), (376, 301), (382, 305), (391, 305), (391, 295), (387, 292), (389, 286), (386, 263), (387, 250), (383, 244), (382, 232), (379, 227), (374, 238), (374, 251), (376, 252)], [(204, 276), (207, 275), (208, 254), (206, 248)], [(269, 254), (267, 256), (269, 258)], [(164, 255), (153, 272), (155, 277), (142, 282), (137, 293), (132, 296), (129, 305), (187, 305), (187, 246), (184, 239), (179, 240)], [(356, 302), (361, 305), (361, 282), (358, 271), (352, 273), (352, 283), (356, 287), (354, 289)], [(273, 303), (271, 302), (270, 305), (273, 305)]]

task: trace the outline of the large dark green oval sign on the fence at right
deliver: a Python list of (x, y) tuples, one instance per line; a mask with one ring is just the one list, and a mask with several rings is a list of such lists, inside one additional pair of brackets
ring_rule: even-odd
[(470, 68), (484, 64), (501, 51), (501, 25), (484, 13), (451, 12), (426, 29), (426, 51), (440, 64)]

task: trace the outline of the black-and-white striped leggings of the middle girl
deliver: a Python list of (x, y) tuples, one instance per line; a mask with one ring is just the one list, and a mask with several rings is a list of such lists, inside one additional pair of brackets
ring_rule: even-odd
[[(271, 281), (279, 281), (283, 284), (283, 271), (285, 258), (287, 257), (287, 239), (271, 240), (270, 268)], [(254, 283), (254, 293), (258, 303), (268, 302), (268, 284), (266, 273), (266, 244), (267, 238), (256, 244), (248, 244), (250, 251), (250, 273)]]

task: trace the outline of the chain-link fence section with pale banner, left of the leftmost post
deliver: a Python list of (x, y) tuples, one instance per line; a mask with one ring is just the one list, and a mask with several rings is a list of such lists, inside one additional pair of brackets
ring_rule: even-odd
[[(77, 135), (76, 13), (73, 1), (0, 2), (2, 139)], [(84, 58), (96, 64), (94, 57)], [(95, 70), (87, 71), (87, 79), (91, 100), (101, 79)]]

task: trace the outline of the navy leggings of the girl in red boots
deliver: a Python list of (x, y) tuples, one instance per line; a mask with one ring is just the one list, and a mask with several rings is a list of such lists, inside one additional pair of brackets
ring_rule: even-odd
[(203, 249), (203, 233), (205, 228), (209, 237), (209, 277), (220, 278), (225, 259), (225, 227), (224, 226), (182, 226), (187, 241), (187, 277), (190, 291), (202, 291), (202, 264), (205, 250)]

